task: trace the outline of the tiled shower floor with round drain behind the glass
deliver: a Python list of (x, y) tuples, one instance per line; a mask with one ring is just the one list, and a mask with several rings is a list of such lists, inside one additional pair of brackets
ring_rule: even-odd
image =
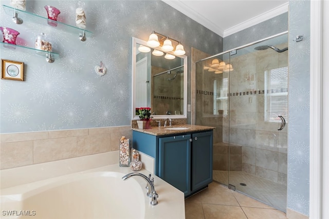
[[(235, 186), (236, 191), (286, 212), (287, 187), (285, 185), (241, 171), (230, 171), (229, 174), (229, 184)], [(213, 180), (227, 186), (228, 171), (213, 170)]]

